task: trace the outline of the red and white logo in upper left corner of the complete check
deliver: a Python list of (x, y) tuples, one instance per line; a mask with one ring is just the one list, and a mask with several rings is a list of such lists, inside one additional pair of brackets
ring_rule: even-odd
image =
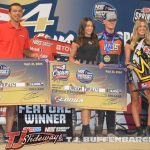
[(66, 70), (66, 65), (54, 65), (52, 74), (53, 80), (67, 80), (69, 70)]

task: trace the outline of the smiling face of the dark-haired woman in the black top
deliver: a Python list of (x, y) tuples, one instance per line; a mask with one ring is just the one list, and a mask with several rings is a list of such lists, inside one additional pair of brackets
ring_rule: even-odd
[(93, 23), (91, 21), (87, 21), (85, 29), (84, 29), (85, 36), (91, 37), (93, 33), (93, 29), (94, 29)]

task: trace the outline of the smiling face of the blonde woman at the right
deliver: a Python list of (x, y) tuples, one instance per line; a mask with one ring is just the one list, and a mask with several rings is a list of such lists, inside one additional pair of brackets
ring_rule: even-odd
[(140, 37), (144, 37), (145, 33), (147, 32), (147, 26), (145, 22), (140, 22), (139, 26), (137, 27), (137, 33)]

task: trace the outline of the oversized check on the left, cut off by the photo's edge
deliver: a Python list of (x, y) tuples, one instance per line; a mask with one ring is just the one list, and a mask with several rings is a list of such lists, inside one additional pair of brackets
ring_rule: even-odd
[(50, 104), (49, 63), (0, 60), (0, 105)]

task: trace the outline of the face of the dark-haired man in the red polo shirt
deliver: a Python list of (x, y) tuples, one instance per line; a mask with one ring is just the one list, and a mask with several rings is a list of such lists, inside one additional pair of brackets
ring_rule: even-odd
[(9, 12), (10, 20), (13, 22), (20, 22), (23, 15), (23, 10), (20, 6), (12, 6)]

